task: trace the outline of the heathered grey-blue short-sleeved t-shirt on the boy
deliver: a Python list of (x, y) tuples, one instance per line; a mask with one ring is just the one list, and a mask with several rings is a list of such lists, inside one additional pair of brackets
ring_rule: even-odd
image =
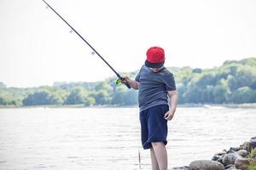
[(174, 77), (165, 67), (161, 71), (154, 72), (143, 65), (135, 80), (140, 83), (138, 89), (140, 111), (155, 105), (168, 105), (167, 92), (176, 90)]

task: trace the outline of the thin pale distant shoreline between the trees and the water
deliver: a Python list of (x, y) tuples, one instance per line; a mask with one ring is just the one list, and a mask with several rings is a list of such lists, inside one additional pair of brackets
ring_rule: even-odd
[[(0, 109), (29, 109), (29, 108), (137, 108), (137, 105), (31, 105), (31, 106), (15, 106), (15, 105), (0, 105)], [(177, 107), (201, 107), (207, 109), (221, 109), (221, 108), (244, 108), (244, 109), (256, 109), (256, 103), (253, 104), (180, 104)]]

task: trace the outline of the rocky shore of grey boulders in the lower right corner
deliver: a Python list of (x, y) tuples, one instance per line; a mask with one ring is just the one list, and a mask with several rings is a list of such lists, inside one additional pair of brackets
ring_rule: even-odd
[(231, 147), (212, 156), (212, 160), (197, 160), (172, 170), (256, 170), (256, 137), (239, 147)]

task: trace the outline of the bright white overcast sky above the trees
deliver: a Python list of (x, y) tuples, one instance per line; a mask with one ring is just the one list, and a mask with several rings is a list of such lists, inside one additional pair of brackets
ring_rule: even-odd
[[(255, 0), (48, 0), (116, 71), (136, 71), (151, 46), (166, 66), (212, 68), (256, 57)], [(41, 0), (0, 0), (0, 82), (8, 87), (114, 76)]]

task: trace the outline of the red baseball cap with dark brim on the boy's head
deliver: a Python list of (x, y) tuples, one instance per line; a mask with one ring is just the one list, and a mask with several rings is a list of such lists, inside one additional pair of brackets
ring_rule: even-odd
[(165, 51), (160, 47), (148, 48), (145, 65), (150, 68), (160, 68), (165, 64)]

